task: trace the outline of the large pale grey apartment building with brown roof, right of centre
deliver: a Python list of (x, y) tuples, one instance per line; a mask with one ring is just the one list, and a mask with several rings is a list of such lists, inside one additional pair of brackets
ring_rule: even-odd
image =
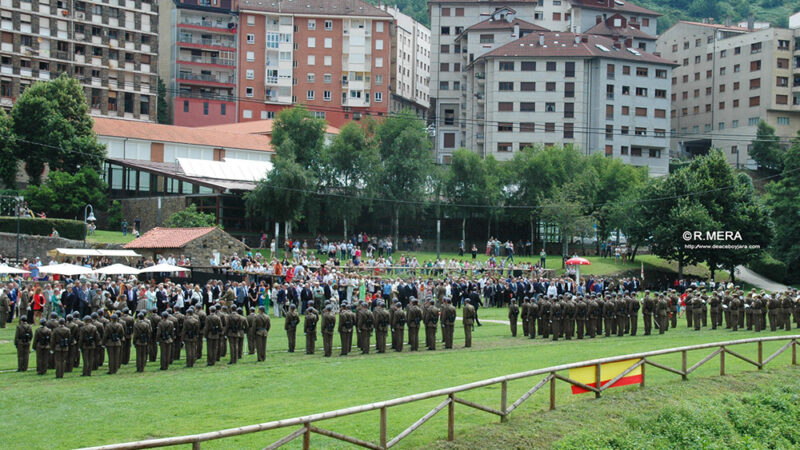
[[(528, 146), (572, 144), (667, 174), (671, 62), (621, 39), (538, 31), (465, 63), (462, 100), (475, 117), (467, 148), (508, 160)], [(456, 139), (445, 132), (445, 148)]]

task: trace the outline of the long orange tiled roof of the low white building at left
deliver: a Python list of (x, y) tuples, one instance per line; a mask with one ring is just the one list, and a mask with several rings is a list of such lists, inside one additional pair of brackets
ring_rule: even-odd
[(269, 136), (230, 133), (203, 128), (179, 127), (151, 122), (124, 119), (94, 118), (94, 132), (98, 136), (142, 139), (146, 141), (176, 142), (206, 145), (218, 148), (237, 148), (271, 152)]

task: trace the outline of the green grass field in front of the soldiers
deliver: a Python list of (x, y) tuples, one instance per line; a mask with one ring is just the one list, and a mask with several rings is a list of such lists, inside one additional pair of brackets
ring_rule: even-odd
[[(480, 310), (480, 315), (482, 319), (505, 319), (505, 310), (484, 308)], [(401, 354), (353, 353), (347, 357), (323, 358), (321, 339), (317, 341), (316, 355), (286, 353), (283, 322), (273, 319), (265, 363), (257, 363), (254, 356), (245, 355), (244, 360), (236, 366), (224, 364), (227, 358), (223, 364), (214, 367), (206, 367), (205, 361), (201, 360), (192, 369), (186, 369), (182, 362), (176, 362), (167, 372), (159, 371), (157, 363), (149, 363), (143, 374), (135, 373), (135, 365), (131, 364), (123, 366), (113, 376), (100, 370), (87, 379), (80, 377), (80, 372), (73, 372), (62, 380), (56, 380), (53, 371), (43, 377), (37, 376), (33, 367), (27, 373), (14, 372), (16, 356), (12, 344), (13, 328), (6, 328), (0, 330), (0, 378), (4, 386), (0, 408), (12, 413), (5, 415), (5, 432), (0, 434), (0, 448), (67, 448), (193, 434), (387, 400), (603, 356), (771, 334), (748, 331), (733, 333), (724, 329), (695, 332), (687, 330), (685, 325), (685, 322), (679, 322), (679, 328), (665, 335), (551, 342), (524, 339), (521, 332), (520, 337), (512, 338), (507, 325), (485, 322), (482, 327), (476, 328), (471, 349), (462, 348), (463, 329), (457, 326), (454, 350), (409, 353), (406, 347)], [(795, 331), (774, 334), (793, 333)], [(300, 334), (298, 349), (303, 347), (302, 338)], [(334, 345), (338, 345), (338, 342)], [(765, 344), (765, 357), (780, 345)], [(736, 348), (736, 351), (755, 358), (754, 345)], [(691, 353), (690, 364), (705, 355), (702, 352)], [(784, 353), (771, 363), (766, 372), (788, 365), (790, 358), (791, 352)], [(659, 357), (657, 361), (680, 367), (678, 355)], [(35, 365), (34, 355), (32, 365)], [(726, 366), (729, 373), (750, 370), (746, 363), (733, 357), (727, 358)], [(712, 361), (695, 371), (690, 378), (709, 377), (718, 374), (718, 371), (718, 364)], [(537, 381), (529, 379), (510, 383), (509, 399), (519, 397)], [(680, 395), (677, 390), (677, 386), (681, 385), (680, 377), (674, 374), (648, 368), (647, 383), (651, 387), (665, 385), (665, 389), (672, 389), (667, 392)], [(636, 390), (637, 387), (624, 387), (614, 391), (617, 396), (624, 396), (626, 392)], [(499, 386), (469, 392), (464, 397), (499, 407)], [(609, 396), (608, 400), (594, 401), (587, 397), (572, 396), (566, 384), (558, 385), (558, 405), (565, 410), (594, 404), (614, 404), (610, 402), (616, 398)], [(388, 415), (389, 436), (398, 434), (439, 401), (432, 399), (391, 408)], [(558, 415), (560, 412), (556, 415), (541, 414), (547, 402), (545, 390), (531, 397), (515, 411), (512, 418), (523, 420), (525, 417), (541, 417), (537, 420), (548, 420), (552, 416), (553, 420), (564, 420), (564, 416)], [(480, 427), (495, 420), (485, 413), (457, 406), (458, 442), (478, 439), (476, 430), (483, 429)], [(566, 426), (566, 422), (560, 423)], [(570, 427), (574, 428), (574, 425), (571, 423)], [(335, 419), (320, 426), (374, 441), (377, 439), (378, 413)], [(203, 448), (263, 447), (290, 431), (278, 430), (209, 442)], [(569, 431), (570, 428), (562, 429), (561, 433), (563, 435)], [(445, 436), (446, 414), (439, 414), (403, 440), (400, 447), (429, 447)], [(462, 438), (465, 440), (461, 441)], [(475, 441), (472, 442), (474, 444)], [(481, 445), (492, 446), (492, 441), (480, 442)], [(507, 444), (511, 441), (497, 442), (506, 445), (495, 447), (509, 448)], [(312, 437), (312, 446), (347, 447), (317, 435)], [(297, 445), (289, 448), (297, 448)]]

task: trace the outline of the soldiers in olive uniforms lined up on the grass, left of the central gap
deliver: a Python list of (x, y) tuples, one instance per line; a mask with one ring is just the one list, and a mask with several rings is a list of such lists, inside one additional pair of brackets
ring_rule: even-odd
[[(270, 318), (265, 308), (258, 312), (250, 308), (250, 314), (243, 315), (242, 308), (231, 308), (217, 304), (206, 314), (202, 308), (187, 308), (186, 313), (167, 309), (161, 314), (157, 310), (140, 311), (134, 317), (126, 308), (121, 312), (107, 314), (101, 310), (80, 318), (77, 312), (59, 319), (51, 314), (48, 320), (42, 319), (35, 333), (26, 318), (21, 318), (14, 337), (17, 347), (18, 371), (27, 371), (31, 346), (36, 352), (36, 371), (39, 375), (48, 369), (56, 370), (56, 378), (65, 372), (81, 366), (82, 376), (91, 376), (93, 371), (103, 366), (108, 357), (108, 373), (116, 373), (121, 365), (129, 364), (131, 349), (136, 351), (136, 370), (143, 372), (148, 361), (155, 362), (160, 353), (160, 368), (169, 366), (181, 359), (186, 351), (186, 366), (193, 367), (203, 355), (203, 341), (207, 348), (206, 361), (209, 366), (230, 353), (229, 364), (236, 364), (243, 356), (244, 337), (247, 337), (249, 354), (256, 354), (257, 360), (266, 360), (267, 336)], [(321, 319), (320, 319), (321, 317)], [(394, 302), (387, 310), (378, 301), (374, 311), (361, 302), (354, 309), (348, 303), (339, 311), (338, 332), (342, 342), (341, 355), (347, 355), (352, 348), (352, 333), (356, 331), (357, 346), (362, 353), (369, 353), (371, 335), (374, 330), (378, 353), (386, 351), (386, 338), (391, 331), (391, 347), (402, 351), (405, 328), (408, 327), (408, 345), (412, 351), (419, 349), (419, 330), (425, 327), (426, 347), (436, 349), (437, 324), (441, 322), (445, 348), (453, 347), (456, 309), (450, 299), (445, 299), (441, 308), (434, 306), (433, 299), (423, 307), (417, 299), (412, 299), (407, 310), (400, 302)], [(476, 319), (475, 309), (467, 301), (464, 307), (463, 324), (465, 346), (472, 345), (472, 329)], [(309, 304), (304, 314), (303, 333), (306, 338), (306, 353), (313, 354), (317, 338), (317, 324), (323, 338), (325, 356), (333, 351), (333, 334), (337, 329), (336, 315), (331, 304), (326, 304), (319, 314)], [(300, 317), (292, 305), (287, 313), (285, 330), (289, 352), (294, 352), (297, 328)]]

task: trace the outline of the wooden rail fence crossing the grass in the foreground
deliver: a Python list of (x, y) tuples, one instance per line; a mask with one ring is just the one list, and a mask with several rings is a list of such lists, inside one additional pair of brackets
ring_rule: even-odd
[[(160, 438), (160, 439), (149, 439), (145, 441), (137, 441), (137, 442), (128, 442), (124, 444), (113, 444), (113, 445), (105, 445), (100, 447), (91, 447), (94, 450), (111, 450), (111, 449), (139, 449), (139, 448), (154, 448), (154, 447), (166, 447), (171, 445), (181, 445), (181, 444), (192, 444), (193, 449), (199, 449), (200, 443), (205, 441), (211, 441), (215, 439), (223, 439), (233, 436), (241, 436), (250, 433), (257, 433), (260, 431), (267, 431), (267, 430), (274, 430), (278, 428), (287, 428), (287, 427), (296, 427), (299, 426), (300, 428), (295, 429), (285, 437), (281, 438), (280, 440), (274, 442), (273, 444), (267, 446), (267, 449), (275, 449), (284, 444), (287, 444), (300, 436), (303, 436), (303, 449), (308, 449), (311, 445), (311, 433), (317, 433), (322, 436), (327, 436), (330, 438), (338, 439), (350, 444), (358, 445), (361, 447), (371, 448), (371, 449), (388, 449), (393, 447), (395, 444), (400, 442), (402, 439), (416, 431), (419, 427), (421, 427), (425, 422), (430, 420), (433, 416), (438, 414), (440, 411), (447, 408), (447, 440), (452, 441), (455, 438), (455, 405), (456, 403), (462, 404), (464, 406), (468, 406), (470, 408), (477, 409), (479, 411), (483, 411), (489, 414), (494, 414), (500, 417), (501, 422), (505, 422), (508, 420), (509, 414), (511, 414), (515, 409), (519, 408), (522, 403), (528, 400), (533, 394), (541, 390), (544, 386), (549, 385), (550, 389), (550, 410), (556, 408), (556, 382), (563, 381), (569, 383), (573, 386), (580, 387), (587, 391), (594, 392), (595, 398), (600, 398), (602, 393), (614, 386), (618, 381), (622, 378), (636, 370), (637, 368), (641, 369), (641, 381), (640, 385), (642, 387), (645, 386), (645, 367), (650, 365), (657, 369), (665, 370), (670, 373), (674, 373), (676, 375), (680, 375), (681, 379), (686, 380), (692, 372), (697, 370), (703, 364), (709, 362), (715, 356), (719, 356), (719, 374), (725, 375), (725, 355), (731, 355), (736, 358), (741, 359), (749, 364), (752, 364), (761, 370), (766, 366), (769, 362), (774, 360), (778, 355), (785, 352), (789, 347), (792, 348), (792, 365), (797, 365), (797, 340), (800, 339), (800, 335), (793, 335), (793, 336), (773, 336), (773, 337), (765, 337), (765, 338), (751, 338), (751, 339), (741, 339), (737, 341), (725, 341), (725, 342), (715, 342), (709, 344), (699, 344), (699, 345), (689, 345), (685, 347), (677, 347), (677, 348), (670, 348), (665, 350), (656, 350), (651, 352), (644, 352), (644, 353), (634, 353), (630, 355), (623, 355), (623, 356), (613, 356), (610, 358), (601, 358), (601, 359), (593, 359), (590, 361), (583, 361), (578, 363), (572, 364), (563, 364), (560, 366), (553, 366), (547, 367), (544, 369), (536, 369), (527, 372), (520, 372), (512, 375), (505, 375), (502, 377), (490, 378), (488, 380), (476, 381), (474, 383), (463, 384), (461, 386), (446, 388), (446, 389), (439, 389), (436, 391), (429, 391), (422, 394), (416, 395), (409, 395), (406, 397), (400, 397), (393, 400), (387, 400), (384, 402), (377, 402), (377, 403), (370, 403), (367, 405), (361, 406), (354, 406), (351, 408), (345, 409), (338, 409), (335, 411), (328, 411), (319, 414), (312, 414), (309, 416), (302, 416), (302, 417), (295, 417), (292, 419), (284, 419), (284, 420), (276, 420), (272, 422), (260, 423), (257, 425), (248, 425), (239, 428), (229, 428), (227, 430), (220, 430), (220, 431), (212, 431), (209, 433), (202, 433), (202, 434), (193, 434), (187, 436), (180, 436), (180, 437), (170, 437), (170, 438)], [(771, 342), (771, 341), (784, 341), (788, 340), (783, 347), (778, 349), (775, 353), (767, 357), (766, 359), (763, 358), (763, 343), (764, 342)], [(758, 356), (757, 360), (753, 360), (742, 354), (735, 352), (728, 347), (732, 347), (735, 345), (742, 345), (742, 344), (750, 344), (756, 343), (758, 344)], [(707, 355), (700, 361), (696, 362), (692, 366), (688, 365), (688, 352), (694, 350), (704, 350), (704, 349), (714, 349), (711, 354)], [(655, 362), (651, 358), (654, 356), (660, 355), (670, 355), (670, 354), (681, 354), (681, 368), (675, 369), (673, 367), (666, 366), (662, 363)], [(619, 361), (628, 361), (628, 360), (635, 360), (627, 369), (622, 371), (619, 375), (614, 377), (613, 379), (609, 380), (605, 384), (602, 383), (601, 380), (601, 365)], [(567, 376), (561, 375), (558, 372), (562, 372), (568, 369), (577, 369), (583, 367), (592, 367), (594, 366), (594, 373), (595, 373), (595, 383), (594, 386), (589, 386), (579, 381), (573, 380)], [(514, 380), (521, 380), (526, 378), (538, 377), (540, 375), (545, 375), (545, 377), (539, 380), (533, 387), (531, 387), (527, 392), (525, 392), (519, 399), (517, 399), (511, 405), (508, 404), (508, 382)], [(493, 408), (490, 406), (481, 405), (469, 400), (465, 400), (461, 397), (456, 396), (456, 394), (460, 394), (462, 392), (471, 391), (478, 388), (483, 388), (487, 386), (494, 386), (500, 384), (500, 408)], [(419, 420), (414, 422), (411, 426), (403, 430), (400, 434), (395, 436), (394, 438), (387, 440), (387, 410), (391, 407), (406, 405), (409, 403), (419, 402), (422, 400), (427, 400), (431, 398), (443, 397), (441, 403), (439, 403), (435, 408), (430, 410), (427, 414), (422, 416)], [(368, 411), (380, 411), (380, 431), (379, 431), (379, 440), (378, 443), (364, 441), (362, 439), (358, 439), (352, 436), (347, 436), (341, 433), (337, 433), (335, 431), (327, 430), (324, 428), (319, 428), (315, 424), (317, 422), (321, 422), (324, 420), (330, 420), (337, 417), (344, 417), (350, 416), (353, 414), (359, 414)]]

